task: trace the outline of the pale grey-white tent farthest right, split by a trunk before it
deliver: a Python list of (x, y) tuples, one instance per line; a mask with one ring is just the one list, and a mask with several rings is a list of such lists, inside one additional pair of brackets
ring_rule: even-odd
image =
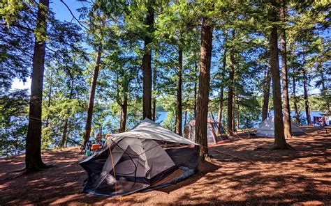
[[(298, 136), (304, 134), (303, 130), (300, 129), (297, 123), (291, 121), (290, 127), (292, 129), (292, 135)], [(256, 132), (256, 136), (265, 136), (274, 138), (274, 117), (266, 118), (258, 127), (258, 131)]]

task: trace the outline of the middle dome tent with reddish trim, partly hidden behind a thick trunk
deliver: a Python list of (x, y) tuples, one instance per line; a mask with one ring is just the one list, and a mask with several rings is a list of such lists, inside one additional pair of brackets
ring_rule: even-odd
[[(186, 138), (190, 141), (196, 141), (196, 120), (191, 120), (188, 125), (188, 133)], [(207, 143), (208, 145), (216, 145), (229, 142), (228, 135), (224, 132), (224, 129), (220, 122), (207, 118)]]

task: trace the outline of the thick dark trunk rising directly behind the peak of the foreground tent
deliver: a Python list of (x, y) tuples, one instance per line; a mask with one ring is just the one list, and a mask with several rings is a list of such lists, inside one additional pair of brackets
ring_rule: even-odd
[(149, 44), (152, 43), (151, 34), (154, 30), (154, 8), (152, 0), (147, 3), (147, 15), (145, 25), (148, 26), (148, 34), (145, 36), (145, 54), (142, 57), (142, 118), (152, 120), (152, 55)]

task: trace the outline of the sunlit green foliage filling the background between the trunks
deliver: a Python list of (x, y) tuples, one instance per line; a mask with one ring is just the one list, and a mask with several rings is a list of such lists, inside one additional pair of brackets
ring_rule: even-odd
[[(64, 134), (67, 145), (80, 142), (98, 49), (102, 50), (101, 70), (91, 135), (101, 128), (103, 134), (118, 132), (126, 100), (126, 130), (142, 120), (141, 68), (147, 50), (152, 51), (151, 66), (152, 70), (156, 69), (153, 88), (156, 111), (168, 111), (161, 124), (175, 129), (179, 50), (183, 52), (183, 112), (189, 114), (187, 122), (193, 119), (203, 18), (209, 20), (213, 29), (209, 112), (218, 111), (223, 88), (223, 122), (226, 121), (231, 50), (235, 58), (235, 120), (239, 110), (240, 127), (256, 127), (260, 121), (263, 72), (270, 58), (268, 40), (272, 26), (286, 29), (289, 85), (290, 91), (293, 90), (294, 78), (299, 110), (304, 110), (303, 72), (308, 77), (311, 110), (325, 113), (330, 110), (330, 36), (327, 34), (330, 3), (327, 1), (288, 1), (284, 21), (274, 15), (280, 5), (265, 1), (96, 0), (85, 5), (78, 11), (86, 28), (61, 22), (50, 10), (47, 31), (38, 31), (37, 3), (1, 1), (1, 155), (24, 150), (27, 94), (10, 87), (14, 79), (26, 81), (31, 74), (35, 36), (37, 40), (45, 39), (47, 45), (43, 148), (58, 148)], [(149, 25), (146, 17), (151, 10), (154, 22)], [(146, 38), (152, 43), (145, 45)], [(312, 93), (312, 88), (318, 92)], [(290, 108), (293, 109), (292, 95)]]

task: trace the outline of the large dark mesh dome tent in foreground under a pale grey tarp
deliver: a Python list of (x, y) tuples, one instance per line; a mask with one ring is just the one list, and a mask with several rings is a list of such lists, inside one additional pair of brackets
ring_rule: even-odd
[(80, 162), (88, 173), (83, 191), (123, 196), (175, 184), (196, 172), (198, 151), (198, 144), (145, 119)]

